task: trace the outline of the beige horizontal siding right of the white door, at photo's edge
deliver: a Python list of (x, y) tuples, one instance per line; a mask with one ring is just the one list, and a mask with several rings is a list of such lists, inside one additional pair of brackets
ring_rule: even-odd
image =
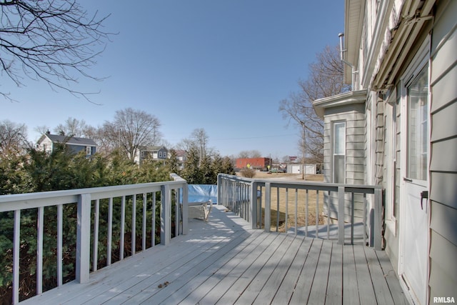
[(457, 298), (457, 1), (438, 1), (431, 46), (430, 302)]

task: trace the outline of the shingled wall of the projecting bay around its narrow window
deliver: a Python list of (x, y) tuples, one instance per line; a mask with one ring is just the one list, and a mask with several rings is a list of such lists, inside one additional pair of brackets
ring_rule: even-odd
[[(364, 184), (365, 157), (365, 108), (363, 104), (351, 104), (325, 109), (323, 163), (324, 181), (333, 182), (332, 129), (336, 121), (346, 121), (346, 184)], [(328, 211), (328, 206), (330, 211)], [(351, 221), (351, 194), (346, 194), (345, 221)], [(323, 214), (337, 218), (337, 194), (324, 194)], [(354, 200), (354, 221), (363, 219), (363, 196), (357, 195)]]

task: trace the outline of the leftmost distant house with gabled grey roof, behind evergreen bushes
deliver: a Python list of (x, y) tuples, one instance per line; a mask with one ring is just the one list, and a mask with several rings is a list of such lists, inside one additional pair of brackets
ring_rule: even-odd
[(94, 155), (97, 147), (97, 144), (91, 139), (61, 136), (59, 134), (51, 134), (48, 131), (36, 142), (36, 149), (51, 153), (57, 144), (65, 144), (74, 154), (79, 153), (79, 151), (86, 151), (86, 156)]

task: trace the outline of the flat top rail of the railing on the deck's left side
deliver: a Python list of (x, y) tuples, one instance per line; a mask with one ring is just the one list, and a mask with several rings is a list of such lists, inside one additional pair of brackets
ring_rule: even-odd
[(179, 188), (186, 181), (160, 181), (144, 184), (127, 184), (120, 186), (101, 186), (87, 189), (69, 189), (61, 191), (41, 191), (26, 194), (9, 194), (0, 196), (0, 212), (19, 209), (33, 209), (38, 206), (52, 206), (76, 202), (81, 194), (91, 194), (91, 199), (104, 199), (118, 196), (160, 191), (161, 186), (169, 185)]

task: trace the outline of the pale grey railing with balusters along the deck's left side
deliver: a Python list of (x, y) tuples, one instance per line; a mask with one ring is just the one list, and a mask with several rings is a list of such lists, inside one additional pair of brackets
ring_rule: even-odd
[[(174, 236), (179, 234), (186, 234), (187, 229), (187, 217), (186, 209), (181, 211), (179, 206), (180, 192), (183, 192), (184, 203), (186, 203), (186, 191), (187, 183), (183, 179), (176, 179), (175, 181), (155, 182), (146, 184), (133, 184), (124, 186), (106, 186), (91, 189), (74, 189), (69, 191), (46, 191), (40, 193), (29, 193), (29, 194), (14, 194), (0, 196), (0, 213), (14, 212), (14, 236), (13, 236), (13, 259), (12, 259), (12, 272), (13, 272), (13, 304), (19, 303), (19, 251), (21, 247), (21, 211), (27, 209), (36, 209), (36, 294), (41, 294), (43, 291), (43, 259), (44, 259), (44, 211), (45, 207), (56, 206), (56, 215), (47, 215), (48, 217), (54, 217), (57, 219), (56, 224), (57, 244), (54, 245), (56, 249), (56, 269), (57, 269), (57, 286), (62, 285), (62, 240), (64, 234), (68, 234), (63, 231), (64, 217), (63, 211), (64, 206), (69, 204), (76, 204), (77, 206), (77, 225), (76, 225), (76, 280), (80, 283), (89, 281), (90, 270), (95, 271), (98, 264), (98, 246), (99, 246), (99, 221), (100, 219), (107, 219), (108, 224), (108, 236), (104, 236), (107, 240), (107, 254), (106, 254), (106, 265), (111, 264), (111, 251), (113, 240), (113, 205), (120, 204), (120, 213), (117, 215), (121, 219), (119, 236), (119, 259), (124, 259), (124, 235), (126, 231), (126, 205), (130, 204), (129, 210), (131, 209), (131, 255), (135, 254), (136, 251), (136, 223), (141, 222), (141, 250), (146, 249), (146, 223), (148, 221), (151, 226), (151, 246), (155, 244), (155, 232), (156, 232), (156, 198), (160, 199), (160, 242), (161, 244), (169, 244), (171, 241), (172, 230), (174, 230)], [(181, 195), (182, 196), (182, 195)], [(100, 202), (108, 201), (108, 215), (101, 215), (100, 213)], [(136, 206), (137, 201), (139, 204), (142, 201), (142, 219), (141, 221), (136, 220)], [(147, 219), (148, 211), (146, 209), (146, 203), (149, 202), (151, 219)], [(186, 206), (186, 204), (184, 204)], [(116, 206), (119, 210), (119, 206)], [(175, 211), (172, 215), (172, 209)], [(53, 210), (54, 211), (54, 210)], [(46, 210), (46, 213), (47, 210)], [(6, 215), (4, 213), (3, 215)], [(174, 228), (171, 224), (174, 221)], [(91, 229), (92, 228), (92, 229)], [(11, 228), (10, 228), (11, 229)], [(54, 236), (55, 237), (55, 236)], [(91, 243), (92, 241), (92, 243)], [(54, 247), (53, 246), (53, 247)], [(66, 245), (68, 246), (68, 245)], [(92, 253), (92, 257), (91, 257)], [(92, 259), (92, 266), (91, 265)], [(6, 262), (1, 262), (6, 264)], [(92, 268), (91, 268), (92, 267)]]

